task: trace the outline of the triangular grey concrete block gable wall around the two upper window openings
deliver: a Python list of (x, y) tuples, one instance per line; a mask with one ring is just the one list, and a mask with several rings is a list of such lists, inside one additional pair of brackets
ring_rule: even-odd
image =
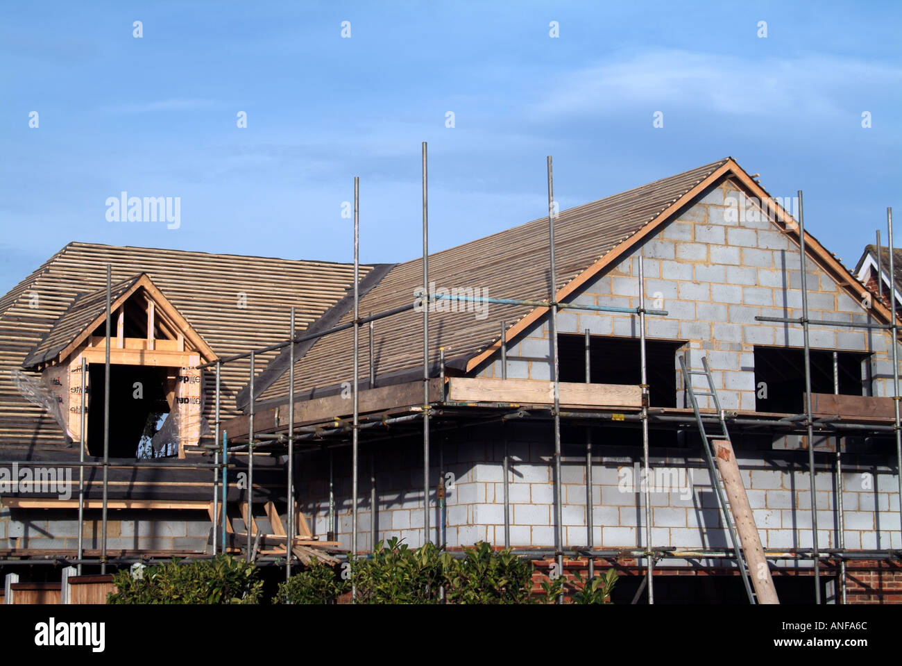
[[(734, 206), (732, 201), (737, 201)], [(748, 213), (740, 190), (729, 181), (707, 192), (658, 235), (580, 291), (575, 301), (589, 305), (639, 307), (639, 262), (646, 277), (647, 307), (667, 310), (649, 316), (649, 338), (686, 340), (687, 365), (701, 367), (707, 356), (715, 387), (726, 409), (755, 409), (755, 345), (802, 347), (802, 328), (756, 321), (756, 316), (801, 317), (799, 248), (763, 216)], [(741, 214), (737, 214), (737, 210)], [(853, 299), (814, 261), (806, 262), (809, 316), (812, 319), (869, 321), (869, 310)], [(590, 311), (562, 311), (561, 333), (639, 337), (639, 318)], [(812, 348), (871, 352), (875, 395), (892, 395), (889, 335), (880, 330), (810, 328)], [(508, 376), (551, 378), (548, 322), (526, 331), (508, 349)], [(902, 358), (902, 347), (899, 347)], [(679, 363), (674, 360), (677, 404), (684, 404)], [(480, 375), (502, 376), (501, 362)], [(704, 377), (694, 380), (701, 386)], [(700, 396), (701, 406), (713, 406)]]

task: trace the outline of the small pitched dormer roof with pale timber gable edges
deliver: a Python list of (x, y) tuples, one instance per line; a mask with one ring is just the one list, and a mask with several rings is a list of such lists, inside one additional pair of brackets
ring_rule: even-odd
[[(207, 345), (204, 338), (189, 324), (179, 310), (170, 303), (147, 273), (139, 273), (133, 278), (111, 285), (110, 312), (115, 313), (116, 310), (123, 308), (124, 304), (139, 292), (143, 292), (148, 306), (152, 307), (156, 321), (162, 324), (162, 330), (170, 332), (173, 338), (184, 339), (185, 345), (196, 350), (205, 362), (216, 361), (216, 352)], [(105, 295), (106, 289), (101, 289), (73, 301), (69, 310), (60, 316), (47, 336), (25, 357), (23, 367), (40, 368), (62, 363), (76, 353), (80, 347), (86, 343), (90, 344), (94, 331), (106, 322)], [(66, 333), (70, 333), (66, 330), (67, 319), (76, 318), (82, 319), (77, 322), (78, 326), (75, 328), (78, 332), (74, 337), (66, 335)], [(58, 334), (56, 338), (55, 334)], [(152, 330), (148, 330), (147, 335), (148, 338), (152, 338)], [(68, 340), (68, 342), (62, 342), (62, 340)], [(153, 352), (146, 353), (152, 354)]]

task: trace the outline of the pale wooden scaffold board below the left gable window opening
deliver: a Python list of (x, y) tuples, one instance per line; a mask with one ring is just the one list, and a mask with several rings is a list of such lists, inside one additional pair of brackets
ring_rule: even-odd
[[(450, 377), (448, 379), (448, 401), (551, 404), (554, 402), (554, 383), (532, 379)], [(641, 409), (642, 391), (638, 384), (561, 382), (560, 403), (571, 407)]]

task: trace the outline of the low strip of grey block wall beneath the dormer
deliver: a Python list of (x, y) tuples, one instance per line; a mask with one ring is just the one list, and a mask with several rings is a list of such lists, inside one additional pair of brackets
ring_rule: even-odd
[[(110, 511), (106, 522), (109, 550), (178, 550), (212, 552), (207, 547), (211, 523), (206, 512)], [(100, 512), (85, 512), (82, 546), (100, 548), (103, 522)], [(76, 511), (0, 510), (0, 548), (35, 550), (78, 549)]]

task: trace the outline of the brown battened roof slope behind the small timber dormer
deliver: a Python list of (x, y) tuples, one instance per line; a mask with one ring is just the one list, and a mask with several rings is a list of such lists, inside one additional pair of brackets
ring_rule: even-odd
[[(65, 337), (56, 325), (78, 328), (78, 312), (83, 306), (87, 312), (89, 304), (78, 298), (105, 291), (107, 263), (117, 290), (147, 273), (217, 356), (288, 338), (291, 306), (298, 330), (304, 330), (354, 282), (349, 264), (70, 243), (0, 298), (0, 446), (60, 444), (56, 423), (18, 393), (11, 372), (41, 341), (53, 346), (58, 332)], [(371, 270), (362, 266), (361, 275)], [(52, 339), (47, 338), (51, 330)], [(273, 356), (260, 355), (258, 367)], [(246, 359), (223, 367), (224, 414), (247, 373)]]

